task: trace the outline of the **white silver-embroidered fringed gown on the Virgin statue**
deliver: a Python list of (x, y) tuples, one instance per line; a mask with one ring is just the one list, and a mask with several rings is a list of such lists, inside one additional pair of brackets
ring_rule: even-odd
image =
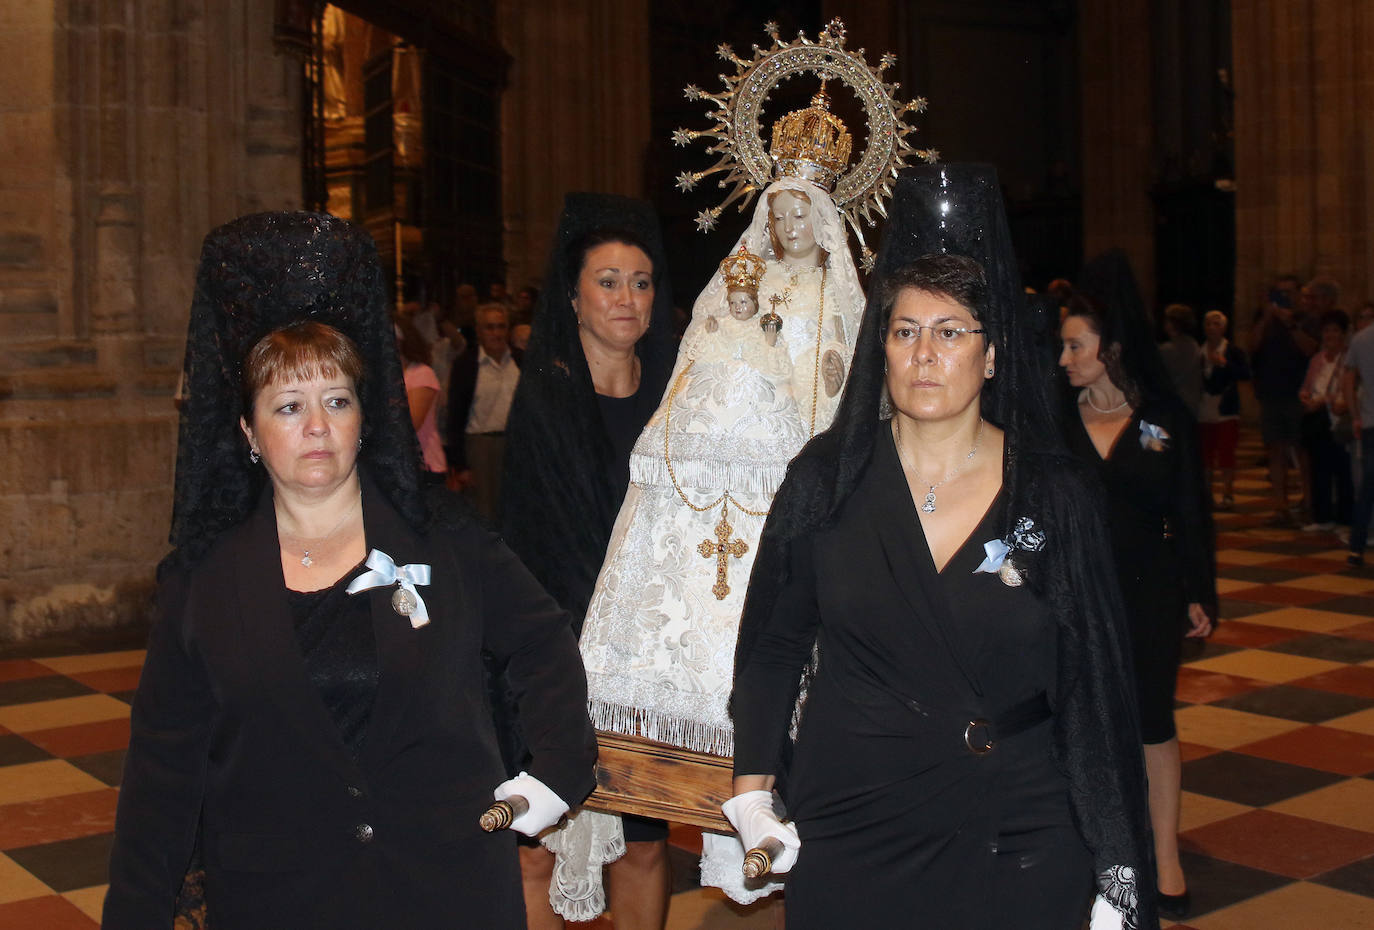
[[(816, 390), (816, 337), (848, 332), (844, 304), (826, 297), (818, 327), (819, 269), (794, 271), (769, 261), (760, 286), (767, 294), (790, 287), (779, 304), (783, 337), (768, 346), (757, 320), (717, 316), (717, 327), (690, 331), (677, 375), (692, 367), (673, 394), (669, 437), (673, 475), (664, 463), (665, 408), (650, 419), (631, 456), (632, 488), (616, 521), (596, 591), (583, 626), (581, 651), (592, 723), (600, 729), (642, 734), (677, 746), (728, 756), (734, 727), (725, 710), (732, 684), (735, 639), (764, 517), (787, 462), (834, 415), (838, 398)], [(830, 279), (831, 282), (834, 277)], [(771, 290), (772, 288), (772, 290)], [(695, 326), (695, 321), (694, 321)], [(848, 359), (851, 349), (834, 343)], [(823, 350), (824, 350), (823, 346)], [(730, 490), (734, 533), (749, 549), (730, 562), (730, 593), (712, 595), (713, 559), (697, 552), (714, 534), (720, 506), (697, 506)], [(736, 584), (736, 578), (739, 580)]]

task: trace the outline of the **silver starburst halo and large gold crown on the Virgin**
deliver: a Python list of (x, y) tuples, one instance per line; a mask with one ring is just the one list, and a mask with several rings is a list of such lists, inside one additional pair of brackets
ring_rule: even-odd
[[(845, 25), (831, 19), (816, 41), (797, 33), (791, 43), (778, 37), (778, 23), (764, 25), (772, 38), (769, 48), (754, 45), (752, 58), (735, 55), (730, 45), (719, 45), (716, 54), (735, 66), (734, 74), (721, 74), (723, 91), (708, 93), (687, 85), (688, 100), (702, 100), (714, 120), (710, 129), (676, 129), (673, 144), (687, 146), (698, 139), (708, 143), (706, 151), (719, 155), (716, 163), (701, 172), (683, 172), (677, 188), (691, 191), (703, 177), (723, 172), (719, 187), (728, 190), (719, 206), (697, 214), (697, 228), (708, 232), (716, 228), (721, 212), (739, 201), (739, 209), (749, 206), (753, 195), (774, 177), (801, 177), (830, 192), (831, 199), (859, 239), (863, 265), (872, 265), (872, 253), (863, 240), (863, 225), (877, 225), (877, 216), (888, 216), (886, 201), (897, 172), (908, 165), (908, 158), (927, 162), (938, 159), (933, 148), (912, 148), (907, 136), (916, 131), (905, 121), (912, 113), (922, 113), (926, 102), (916, 98), (908, 103), (896, 100), (896, 82), (885, 82), (882, 73), (897, 58), (888, 52), (877, 66), (864, 59), (864, 49), (845, 48)], [(758, 120), (769, 92), (782, 81), (797, 74), (820, 78), (820, 92), (811, 106), (789, 113), (774, 124), (771, 150), (760, 137)], [(826, 81), (840, 81), (849, 88), (863, 107), (867, 122), (867, 143), (851, 163), (852, 139), (845, 124), (830, 113)]]

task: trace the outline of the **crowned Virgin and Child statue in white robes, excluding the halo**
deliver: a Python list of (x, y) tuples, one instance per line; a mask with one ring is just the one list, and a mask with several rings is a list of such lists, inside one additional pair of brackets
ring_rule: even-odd
[[(790, 150), (791, 163), (842, 165), (848, 133), (824, 106), (818, 93), (780, 121), (840, 126), (824, 146)], [(731, 313), (743, 287), (731, 290), (728, 268), (697, 298), (668, 393), (635, 444), (581, 637), (599, 729), (717, 756), (732, 751), (725, 701), (764, 517), (787, 463), (834, 416), (864, 305), (844, 221), (815, 181), (769, 184), (723, 265), (741, 256), (761, 268), (768, 313)], [(782, 324), (774, 346), (768, 317)]]

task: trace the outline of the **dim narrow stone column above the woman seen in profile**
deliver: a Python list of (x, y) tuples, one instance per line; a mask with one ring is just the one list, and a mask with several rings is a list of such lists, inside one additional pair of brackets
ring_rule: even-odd
[(1120, 247), (1154, 304), (1151, 16), (1149, 0), (1079, 4), (1083, 251)]

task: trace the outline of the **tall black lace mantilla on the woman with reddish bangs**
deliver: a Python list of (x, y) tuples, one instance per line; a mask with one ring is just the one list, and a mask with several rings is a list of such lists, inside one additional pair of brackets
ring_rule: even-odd
[(412, 526), (429, 522), (392, 328), (386, 279), (367, 231), (327, 213), (257, 213), (212, 231), (201, 250), (185, 341), (176, 503), (164, 566), (195, 563), (256, 504), (267, 474), (239, 430), (243, 357), (301, 320), (345, 332), (363, 354), (359, 463)]

